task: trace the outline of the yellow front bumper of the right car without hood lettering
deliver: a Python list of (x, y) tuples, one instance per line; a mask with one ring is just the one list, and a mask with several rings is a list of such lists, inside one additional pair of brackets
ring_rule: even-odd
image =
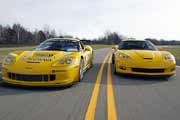
[(176, 73), (176, 65), (170, 64), (129, 64), (128, 62), (115, 63), (117, 73), (135, 74), (135, 75), (153, 75), (153, 76), (169, 76)]

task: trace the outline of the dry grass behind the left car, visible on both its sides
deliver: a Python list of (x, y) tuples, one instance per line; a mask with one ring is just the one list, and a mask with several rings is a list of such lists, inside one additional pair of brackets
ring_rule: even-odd
[[(94, 49), (99, 48), (107, 48), (111, 47), (110, 45), (91, 45)], [(3, 58), (10, 52), (16, 51), (16, 50), (33, 50), (36, 46), (17, 46), (14, 45), (6, 45), (2, 46), (0, 45), (0, 63), (2, 62)]]

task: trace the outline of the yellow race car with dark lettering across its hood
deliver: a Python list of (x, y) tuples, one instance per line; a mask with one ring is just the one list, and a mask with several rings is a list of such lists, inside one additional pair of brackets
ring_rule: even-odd
[(61, 86), (83, 79), (93, 64), (93, 49), (80, 40), (54, 38), (33, 51), (16, 51), (5, 57), (2, 79), (25, 86)]

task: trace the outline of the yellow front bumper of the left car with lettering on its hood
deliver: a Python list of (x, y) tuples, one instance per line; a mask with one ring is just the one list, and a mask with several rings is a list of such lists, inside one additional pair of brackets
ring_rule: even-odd
[[(68, 67), (66, 69), (63, 68), (55, 68), (43, 71), (42, 73), (34, 73), (31, 72), (22, 72), (22, 71), (12, 71), (7, 68), (2, 68), (2, 80), (5, 83), (14, 84), (14, 85), (22, 85), (22, 86), (66, 86), (69, 84), (72, 84), (75, 81), (78, 81), (78, 72), (79, 68), (78, 66)], [(10, 77), (9, 73), (13, 73), (15, 75), (21, 75), (21, 77)], [(33, 76), (40, 76), (40, 75), (53, 75), (55, 78), (52, 79), (46, 79), (46, 80), (36, 80)], [(29, 76), (29, 78), (24, 79), (22, 76)], [(32, 76), (32, 77), (31, 77)], [(32, 79), (31, 79), (32, 78)]]

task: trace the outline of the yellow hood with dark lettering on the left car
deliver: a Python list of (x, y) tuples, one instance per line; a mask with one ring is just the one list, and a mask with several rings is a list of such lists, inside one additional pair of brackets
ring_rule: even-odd
[[(55, 69), (57, 66), (53, 64), (60, 61), (60, 59), (71, 56), (78, 58), (80, 52), (63, 52), (63, 51), (16, 51), (9, 55), (14, 56), (15, 63), (12, 65), (3, 64), (9, 71), (16, 71), (16, 73), (34, 73), (40, 74), (43, 72), (51, 72), (51, 67)], [(64, 65), (60, 65), (64, 68)]]

